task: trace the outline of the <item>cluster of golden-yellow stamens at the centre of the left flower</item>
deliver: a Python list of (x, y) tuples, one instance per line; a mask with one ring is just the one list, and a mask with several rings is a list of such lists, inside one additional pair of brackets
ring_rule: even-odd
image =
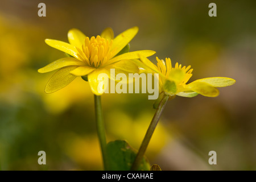
[(90, 39), (86, 37), (82, 49), (76, 47), (79, 52), (77, 55), (85, 63), (98, 68), (112, 58), (112, 43), (113, 40), (106, 40), (99, 35), (96, 38), (92, 36)]

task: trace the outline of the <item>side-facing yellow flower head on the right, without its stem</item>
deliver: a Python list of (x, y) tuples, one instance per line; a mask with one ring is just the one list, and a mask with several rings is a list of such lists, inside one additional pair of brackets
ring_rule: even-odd
[[(207, 97), (217, 97), (219, 91), (216, 87), (229, 86), (236, 82), (227, 77), (209, 77), (187, 84), (193, 71), (190, 65), (182, 67), (181, 64), (176, 63), (175, 67), (172, 67), (170, 58), (164, 61), (158, 57), (156, 57), (157, 66), (144, 56), (141, 56), (141, 61), (144, 65), (143, 72), (159, 74), (159, 93), (163, 91), (170, 96), (195, 97), (201, 94)], [(143, 65), (139, 64), (142, 68)]]

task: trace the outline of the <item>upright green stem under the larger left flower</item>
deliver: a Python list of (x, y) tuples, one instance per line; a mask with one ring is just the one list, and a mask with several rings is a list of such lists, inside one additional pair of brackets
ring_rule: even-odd
[(105, 135), (105, 125), (104, 125), (104, 119), (103, 119), (102, 107), (101, 107), (101, 96), (94, 95), (94, 105), (95, 105), (95, 114), (96, 114), (97, 134), (98, 134), (98, 139), (100, 140), (104, 169), (107, 170), (108, 165), (107, 165), (107, 156), (106, 156), (106, 135)]

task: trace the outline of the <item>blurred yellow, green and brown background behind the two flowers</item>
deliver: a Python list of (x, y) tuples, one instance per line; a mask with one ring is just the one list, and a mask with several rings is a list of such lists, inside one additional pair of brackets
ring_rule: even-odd
[[(46, 4), (46, 17), (38, 4)], [(217, 5), (210, 17), (209, 3)], [(51, 73), (37, 69), (64, 53), (44, 39), (67, 42), (79, 28), (95, 36), (138, 26), (131, 51), (151, 49), (194, 69), (190, 81), (224, 76), (236, 84), (220, 96), (176, 97), (167, 103), (146, 155), (163, 170), (256, 169), (256, 2), (251, 1), (35, 1), (0, 2), (0, 169), (101, 170), (88, 82), (76, 78), (44, 93)], [(107, 140), (136, 149), (154, 115), (146, 94), (104, 94)], [(38, 164), (46, 151), (47, 165)], [(217, 165), (209, 165), (209, 151)]]

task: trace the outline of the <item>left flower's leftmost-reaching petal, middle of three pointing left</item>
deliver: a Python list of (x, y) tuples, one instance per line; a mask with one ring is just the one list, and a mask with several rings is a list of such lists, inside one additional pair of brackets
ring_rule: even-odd
[(53, 61), (52, 63), (46, 65), (43, 68), (38, 69), (38, 72), (39, 73), (47, 73), (47, 72), (51, 72), (53, 70), (71, 66), (71, 65), (82, 66), (82, 65), (85, 65), (85, 63), (82, 61), (79, 61), (73, 57), (64, 57), (59, 60)]

